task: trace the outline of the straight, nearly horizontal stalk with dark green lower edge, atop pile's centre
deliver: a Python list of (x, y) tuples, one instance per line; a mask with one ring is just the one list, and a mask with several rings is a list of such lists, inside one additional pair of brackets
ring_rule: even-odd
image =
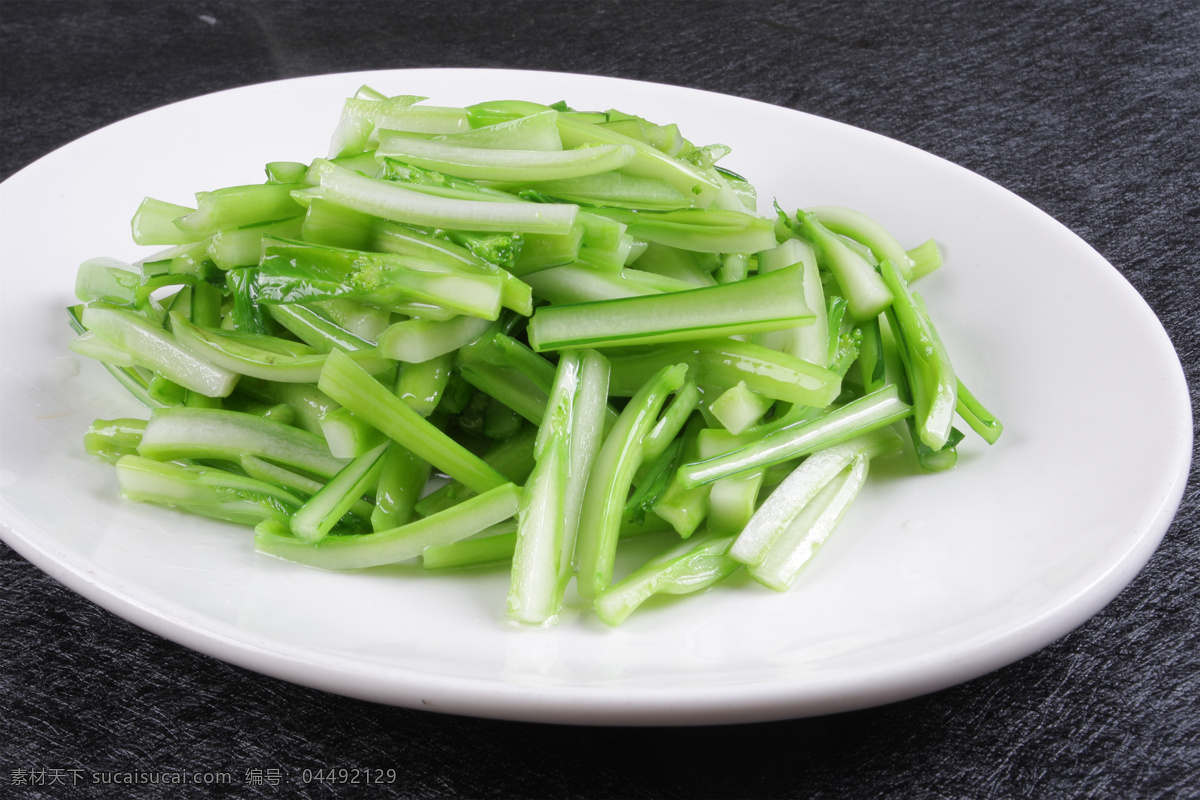
[(779, 330), (814, 318), (799, 269), (737, 283), (576, 306), (542, 306), (529, 320), (534, 350), (628, 347)]

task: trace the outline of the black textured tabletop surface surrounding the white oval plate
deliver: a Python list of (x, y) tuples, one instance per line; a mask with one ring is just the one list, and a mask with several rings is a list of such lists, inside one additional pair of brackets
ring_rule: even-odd
[[(137, 112), (324, 72), (520, 67), (740, 95), (931, 151), (1062, 221), (1163, 319), (1195, 405), (1200, 5), (983, 6), (2, 0), (0, 176)], [(247, 786), (247, 769), (359, 765), (398, 774), (364, 796), (1200, 796), (1196, 487), (1193, 468), (1138, 579), (1043, 651), (881, 709), (725, 728), (550, 727), (324, 694), (145, 633), (0, 546), (0, 794), (128, 796), (19, 789), (14, 769), (220, 770), (235, 784), (212, 795), (274, 798), (300, 787)]]

